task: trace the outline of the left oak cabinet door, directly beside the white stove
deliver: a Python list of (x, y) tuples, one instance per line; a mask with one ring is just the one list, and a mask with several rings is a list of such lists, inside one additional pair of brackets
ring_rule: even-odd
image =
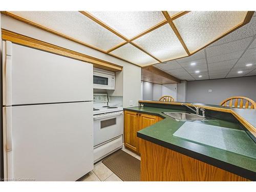
[(137, 151), (139, 131), (139, 115), (136, 112), (124, 111), (124, 145)]

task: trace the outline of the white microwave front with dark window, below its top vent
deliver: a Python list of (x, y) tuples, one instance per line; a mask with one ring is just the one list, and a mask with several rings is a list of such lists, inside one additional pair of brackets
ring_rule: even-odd
[(115, 76), (99, 72), (93, 72), (94, 89), (115, 89)]

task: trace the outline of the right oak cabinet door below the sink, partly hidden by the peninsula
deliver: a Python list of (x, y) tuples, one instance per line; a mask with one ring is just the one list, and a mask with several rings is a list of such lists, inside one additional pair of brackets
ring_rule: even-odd
[[(155, 115), (148, 115), (148, 114), (139, 114), (139, 130), (144, 129), (147, 126), (153, 125), (159, 121), (159, 117)], [(139, 147), (139, 138), (138, 138), (138, 147), (137, 152), (140, 153), (140, 147)]]

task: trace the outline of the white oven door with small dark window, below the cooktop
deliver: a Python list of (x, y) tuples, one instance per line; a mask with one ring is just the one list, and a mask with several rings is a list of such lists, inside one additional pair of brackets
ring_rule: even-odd
[(94, 115), (94, 146), (123, 134), (123, 112)]

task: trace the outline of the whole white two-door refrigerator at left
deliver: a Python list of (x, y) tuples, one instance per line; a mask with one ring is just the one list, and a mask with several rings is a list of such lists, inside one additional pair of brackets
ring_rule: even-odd
[(93, 169), (93, 66), (3, 41), (4, 178), (75, 181)]

